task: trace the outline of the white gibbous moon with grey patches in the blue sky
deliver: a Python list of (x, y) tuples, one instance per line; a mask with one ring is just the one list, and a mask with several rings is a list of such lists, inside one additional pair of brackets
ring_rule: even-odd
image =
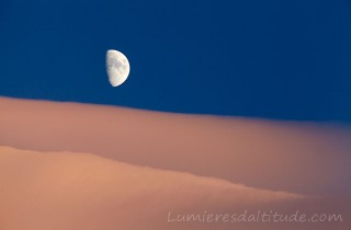
[(131, 71), (129, 61), (121, 51), (106, 51), (106, 71), (112, 87), (118, 87), (127, 80)]

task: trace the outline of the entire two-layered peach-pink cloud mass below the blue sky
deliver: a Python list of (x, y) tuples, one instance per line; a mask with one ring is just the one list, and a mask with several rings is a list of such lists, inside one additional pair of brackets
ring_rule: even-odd
[[(0, 127), (0, 229), (351, 226), (348, 129), (4, 97)], [(324, 211), (344, 221), (167, 221), (169, 211), (206, 210)]]

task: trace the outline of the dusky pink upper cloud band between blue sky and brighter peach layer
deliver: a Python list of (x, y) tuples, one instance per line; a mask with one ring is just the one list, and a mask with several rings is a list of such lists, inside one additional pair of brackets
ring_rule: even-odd
[(248, 186), (349, 195), (351, 133), (318, 124), (0, 99), (0, 145), (91, 152)]

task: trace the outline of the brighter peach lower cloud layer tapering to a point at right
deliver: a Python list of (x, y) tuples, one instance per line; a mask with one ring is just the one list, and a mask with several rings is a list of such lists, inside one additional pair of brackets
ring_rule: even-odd
[(0, 147), (0, 227), (7, 230), (165, 229), (169, 211), (247, 209), (303, 198), (90, 153), (8, 147)]

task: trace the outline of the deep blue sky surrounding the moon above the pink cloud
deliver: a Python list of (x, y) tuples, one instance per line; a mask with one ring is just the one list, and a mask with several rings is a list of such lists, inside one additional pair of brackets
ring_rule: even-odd
[[(110, 48), (132, 66), (118, 88)], [(351, 122), (351, 3), (1, 0), (0, 95)]]

